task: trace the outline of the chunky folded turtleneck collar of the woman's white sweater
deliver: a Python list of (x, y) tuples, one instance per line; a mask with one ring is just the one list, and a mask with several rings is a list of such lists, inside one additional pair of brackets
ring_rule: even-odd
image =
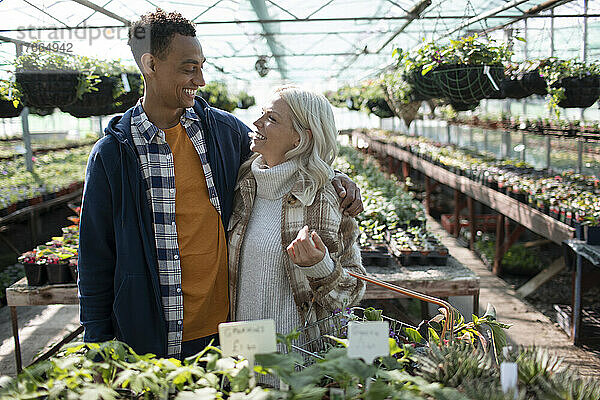
[(252, 174), (256, 179), (256, 196), (276, 200), (290, 192), (296, 180), (298, 163), (288, 160), (269, 168), (262, 156), (252, 162)]

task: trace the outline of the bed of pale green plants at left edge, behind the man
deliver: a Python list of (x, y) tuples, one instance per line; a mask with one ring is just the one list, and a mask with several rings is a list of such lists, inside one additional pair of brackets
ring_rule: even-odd
[(92, 146), (61, 150), (34, 157), (34, 172), (22, 159), (0, 163), (0, 217), (51, 200), (83, 185)]

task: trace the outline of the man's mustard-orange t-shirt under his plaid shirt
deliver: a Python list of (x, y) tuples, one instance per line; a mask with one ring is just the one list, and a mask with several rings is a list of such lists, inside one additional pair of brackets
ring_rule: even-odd
[(217, 333), (218, 324), (227, 320), (227, 242), (192, 141), (181, 123), (164, 132), (175, 165), (175, 223), (186, 341)]

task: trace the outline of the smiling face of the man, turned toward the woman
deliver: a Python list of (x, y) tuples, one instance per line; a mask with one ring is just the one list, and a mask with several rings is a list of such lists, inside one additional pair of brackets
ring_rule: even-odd
[(164, 59), (155, 57), (155, 92), (169, 109), (194, 106), (194, 95), (205, 85), (204, 54), (195, 36), (175, 34)]

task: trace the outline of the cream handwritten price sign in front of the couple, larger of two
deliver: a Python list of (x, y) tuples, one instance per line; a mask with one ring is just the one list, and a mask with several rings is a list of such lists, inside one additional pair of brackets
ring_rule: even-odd
[(275, 321), (226, 322), (219, 324), (219, 341), (225, 357), (243, 356), (254, 365), (254, 355), (277, 351)]

